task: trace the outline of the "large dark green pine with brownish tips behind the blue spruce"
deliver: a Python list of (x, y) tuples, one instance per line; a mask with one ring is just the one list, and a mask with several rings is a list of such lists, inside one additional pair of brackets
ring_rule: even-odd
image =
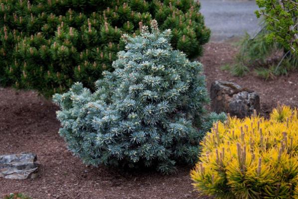
[(94, 89), (124, 49), (155, 18), (174, 49), (202, 54), (210, 36), (195, 0), (0, 0), (0, 84), (45, 96), (80, 81)]

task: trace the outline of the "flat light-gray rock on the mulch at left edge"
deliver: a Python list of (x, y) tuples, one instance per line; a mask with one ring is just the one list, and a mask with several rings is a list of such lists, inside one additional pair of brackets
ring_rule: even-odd
[(37, 157), (32, 153), (0, 156), (0, 177), (6, 179), (33, 179), (38, 176)]

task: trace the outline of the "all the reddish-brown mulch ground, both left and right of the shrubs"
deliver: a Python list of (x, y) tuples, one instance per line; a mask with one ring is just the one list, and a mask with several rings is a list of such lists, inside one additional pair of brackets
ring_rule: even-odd
[[(298, 73), (264, 81), (253, 74), (233, 77), (220, 67), (232, 63), (237, 48), (229, 43), (209, 43), (201, 59), (210, 88), (212, 81), (228, 80), (256, 90), (263, 115), (278, 102), (298, 106)], [(34, 199), (195, 199), (189, 171), (163, 176), (154, 172), (126, 173), (84, 166), (66, 149), (58, 135), (58, 110), (51, 101), (32, 91), (0, 88), (0, 154), (33, 152), (40, 176), (34, 180), (0, 179), (0, 197), (22, 192)], [(201, 197), (207, 199), (208, 197)]]

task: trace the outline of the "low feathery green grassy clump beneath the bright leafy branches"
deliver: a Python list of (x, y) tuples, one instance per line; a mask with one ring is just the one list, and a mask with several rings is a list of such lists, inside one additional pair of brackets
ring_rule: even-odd
[(284, 53), (281, 44), (267, 39), (268, 34), (265, 28), (254, 37), (246, 34), (238, 43), (240, 48), (236, 54), (236, 63), (223, 69), (236, 76), (244, 76), (252, 70), (264, 79), (274, 79), (298, 69), (298, 57), (289, 51)]

